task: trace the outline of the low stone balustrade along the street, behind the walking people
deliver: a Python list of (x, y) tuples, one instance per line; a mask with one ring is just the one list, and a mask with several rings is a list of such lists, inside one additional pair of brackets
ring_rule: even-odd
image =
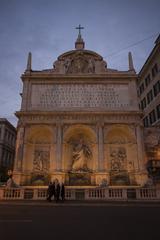
[[(46, 200), (46, 188), (0, 188), (0, 200)], [(66, 200), (160, 200), (160, 189), (156, 188), (86, 188), (66, 187)]]

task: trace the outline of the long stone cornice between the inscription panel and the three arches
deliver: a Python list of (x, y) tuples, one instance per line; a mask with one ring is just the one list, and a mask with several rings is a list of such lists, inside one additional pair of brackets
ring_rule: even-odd
[(103, 122), (104, 124), (134, 124), (141, 125), (140, 112), (128, 113), (47, 113), (47, 112), (16, 112), (19, 118), (18, 125), (26, 124), (49, 124), (55, 125), (59, 122), (62, 124), (87, 124), (97, 125)]

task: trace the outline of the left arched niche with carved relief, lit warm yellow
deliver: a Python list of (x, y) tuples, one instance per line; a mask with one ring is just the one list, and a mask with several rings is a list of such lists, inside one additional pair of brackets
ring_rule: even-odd
[(47, 175), (51, 167), (54, 130), (45, 125), (30, 126), (25, 129), (23, 170), (34, 176)]

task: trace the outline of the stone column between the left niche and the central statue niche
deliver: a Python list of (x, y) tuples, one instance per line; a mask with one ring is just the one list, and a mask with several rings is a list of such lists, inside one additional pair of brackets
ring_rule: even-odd
[(62, 124), (57, 124), (56, 170), (62, 169)]

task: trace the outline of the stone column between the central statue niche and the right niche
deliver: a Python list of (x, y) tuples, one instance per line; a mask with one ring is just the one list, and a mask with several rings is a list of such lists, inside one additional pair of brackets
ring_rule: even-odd
[(103, 124), (98, 124), (98, 170), (104, 170)]

